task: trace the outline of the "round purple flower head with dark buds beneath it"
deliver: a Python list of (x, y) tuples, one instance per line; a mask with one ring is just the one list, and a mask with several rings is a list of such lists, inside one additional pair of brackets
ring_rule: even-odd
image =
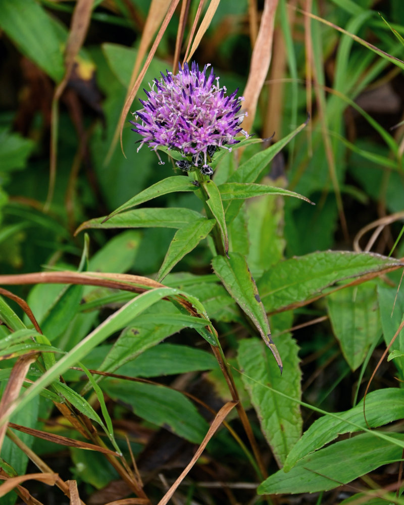
[(208, 162), (215, 151), (219, 147), (231, 150), (227, 145), (238, 143), (235, 136), (240, 132), (248, 137), (240, 128), (244, 98), (236, 96), (238, 89), (226, 96), (226, 87), (220, 87), (213, 68), (207, 74), (208, 67), (199, 71), (195, 62), (190, 69), (185, 63), (175, 75), (161, 72), (160, 81), (155, 79), (150, 90), (144, 90), (147, 100), (140, 100), (143, 109), (134, 113), (141, 124), (130, 121), (135, 126), (132, 130), (143, 137), (137, 150), (143, 144), (155, 151), (159, 146), (175, 149), (184, 157), (176, 163), (178, 168), (197, 167), (211, 175)]

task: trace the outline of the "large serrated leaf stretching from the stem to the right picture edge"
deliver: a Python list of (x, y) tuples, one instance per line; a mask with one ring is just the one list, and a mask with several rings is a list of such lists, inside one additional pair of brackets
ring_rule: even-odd
[(335, 283), (401, 263), (370, 252), (322, 251), (283, 261), (257, 282), (267, 312), (320, 296)]

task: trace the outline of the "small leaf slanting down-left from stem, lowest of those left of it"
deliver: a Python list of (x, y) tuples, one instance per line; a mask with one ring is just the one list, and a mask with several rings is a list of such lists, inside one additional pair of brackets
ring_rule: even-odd
[(161, 282), (188, 252), (194, 249), (201, 240), (206, 238), (214, 225), (214, 219), (203, 218), (197, 219), (189, 223), (188, 226), (177, 230), (164, 258), (163, 265), (157, 274), (157, 281)]

